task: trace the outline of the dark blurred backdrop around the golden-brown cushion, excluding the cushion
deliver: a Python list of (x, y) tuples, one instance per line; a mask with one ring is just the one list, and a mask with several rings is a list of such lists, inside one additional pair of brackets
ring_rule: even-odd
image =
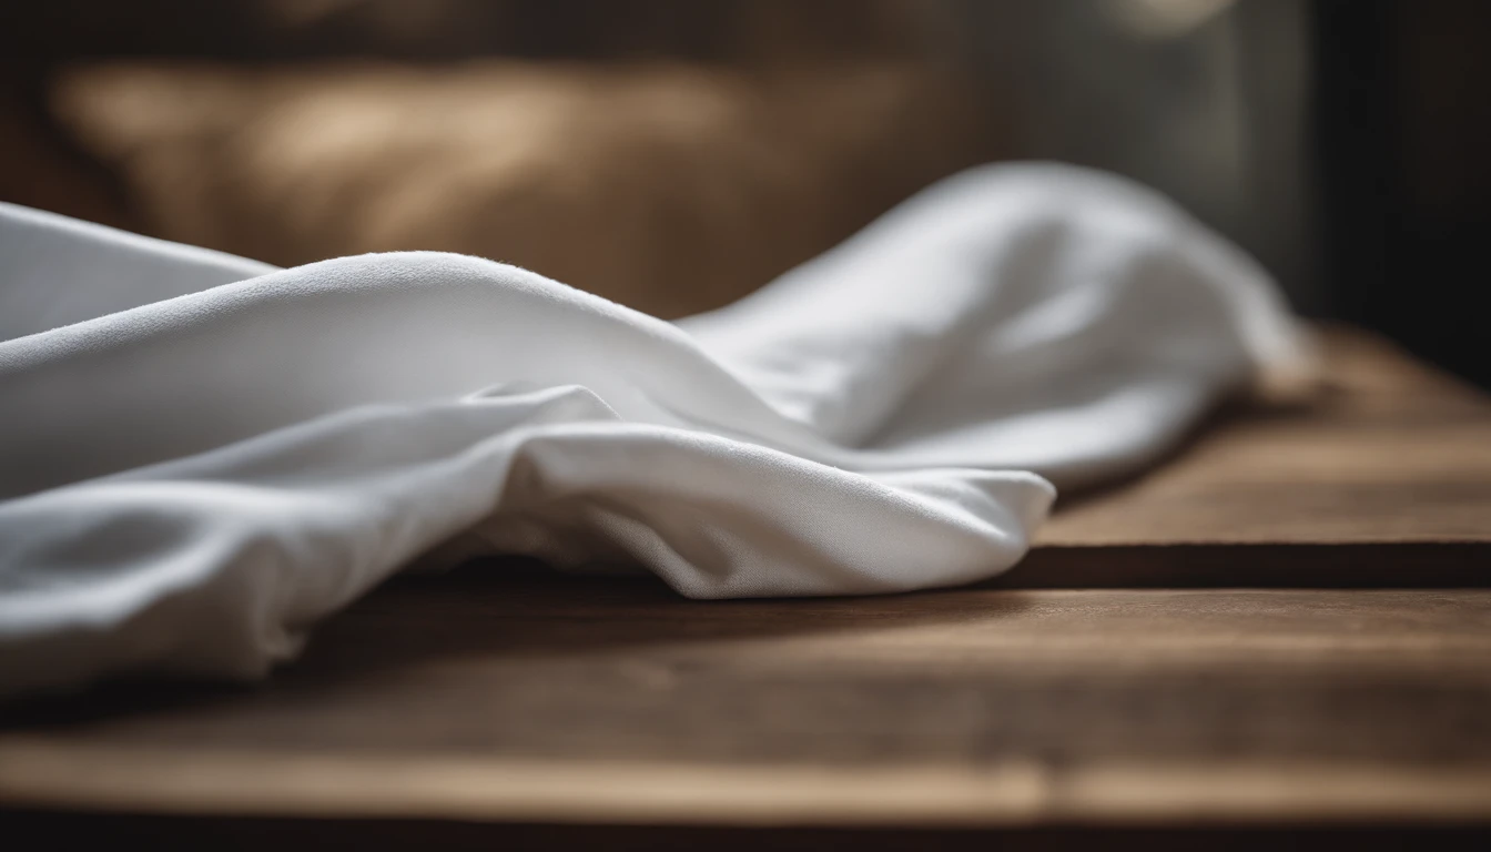
[[(270, 69), (349, 57), (502, 57), (604, 69), (665, 58), (759, 70), (920, 61), (951, 70), (978, 119), (972, 130), (951, 122), (927, 134), (966, 133), (969, 145), (930, 155), (898, 143), (877, 151), (880, 160), (866, 157), (862, 179), (848, 175), (817, 191), (877, 181), (881, 191), (750, 275), (822, 251), (915, 185), (972, 161), (1068, 160), (1170, 194), (1255, 254), (1303, 313), (1381, 330), (1491, 386), (1478, 298), (1491, 198), (1488, 36), (1484, 0), (6, 3), (0, 200), (271, 263), (303, 260), (152, 218), (116, 163), (57, 118), (54, 81), (81, 63), (191, 58)], [(865, 127), (863, 136), (877, 136), (871, 121)], [(887, 164), (917, 157), (899, 182), (884, 178)], [(422, 248), (392, 242), (386, 248)], [(728, 255), (732, 245), (711, 251)], [(497, 236), (491, 251), (480, 240), (455, 248), (505, 251)], [(325, 246), (338, 251), (346, 248)], [(565, 272), (553, 273), (583, 278)]]

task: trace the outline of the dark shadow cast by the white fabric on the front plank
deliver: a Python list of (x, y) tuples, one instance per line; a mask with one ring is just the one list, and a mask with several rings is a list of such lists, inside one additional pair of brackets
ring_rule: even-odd
[(1027, 606), (1021, 592), (948, 591), (857, 598), (693, 601), (650, 576), (570, 576), (517, 558), (444, 574), (400, 576), (331, 616), (304, 655), (253, 685), (128, 679), (73, 695), (0, 704), (0, 730), (58, 730), (157, 713), (213, 713), (286, 694), (470, 660), (497, 664), (647, 648), (896, 628), (987, 618)]

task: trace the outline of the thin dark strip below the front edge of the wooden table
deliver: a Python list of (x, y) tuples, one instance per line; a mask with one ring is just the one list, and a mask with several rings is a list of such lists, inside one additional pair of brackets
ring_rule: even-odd
[(1484, 852), (1478, 827), (1033, 827), (844, 828), (734, 825), (599, 825), (440, 819), (215, 818), (27, 812), (9, 815), (18, 837), (58, 849), (607, 849), (614, 852)]

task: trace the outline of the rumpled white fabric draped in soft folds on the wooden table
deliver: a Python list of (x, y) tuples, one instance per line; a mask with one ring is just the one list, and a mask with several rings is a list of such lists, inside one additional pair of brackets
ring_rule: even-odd
[(471, 257), (273, 270), (0, 207), (0, 328), (9, 692), (261, 676), (420, 555), (699, 598), (987, 577), (1050, 482), (1302, 357), (1238, 249), (1059, 166), (944, 181), (678, 324)]

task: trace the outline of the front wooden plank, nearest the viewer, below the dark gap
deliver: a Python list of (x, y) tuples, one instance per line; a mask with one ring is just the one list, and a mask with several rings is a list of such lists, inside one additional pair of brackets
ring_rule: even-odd
[(248, 691), (15, 709), (0, 801), (734, 825), (1491, 815), (1491, 591), (406, 582)]

